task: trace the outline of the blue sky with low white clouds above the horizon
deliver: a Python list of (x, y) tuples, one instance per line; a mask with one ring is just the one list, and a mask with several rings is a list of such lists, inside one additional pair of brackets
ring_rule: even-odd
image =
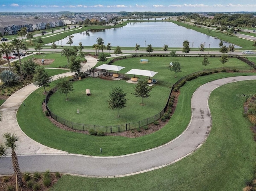
[(256, 0), (0, 0), (0, 12), (236, 12)]

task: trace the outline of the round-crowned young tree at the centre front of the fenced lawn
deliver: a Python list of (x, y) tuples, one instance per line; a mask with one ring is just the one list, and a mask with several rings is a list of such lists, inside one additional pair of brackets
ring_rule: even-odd
[(126, 107), (127, 99), (125, 98), (127, 93), (124, 93), (120, 87), (113, 88), (109, 93), (108, 106), (114, 110), (117, 109), (117, 116), (119, 117), (119, 109)]

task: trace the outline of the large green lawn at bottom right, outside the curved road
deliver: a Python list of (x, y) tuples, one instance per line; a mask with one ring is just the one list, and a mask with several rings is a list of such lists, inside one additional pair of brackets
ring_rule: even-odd
[[(182, 92), (206, 79), (200, 77), (188, 82), (191, 84), (185, 85)], [(254, 81), (243, 81), (214, 90), (209, 99), (213, 123), (210, 135), (200, 149), (181, 161), (147, 173), (113, 179), (64, 175), (51, 191), (242, 190), (253, 178), (256, 144), (249, 128), (251, 124), (242, 117), (245, 98), (236, 94), (254, 94), (255, 89)]]

